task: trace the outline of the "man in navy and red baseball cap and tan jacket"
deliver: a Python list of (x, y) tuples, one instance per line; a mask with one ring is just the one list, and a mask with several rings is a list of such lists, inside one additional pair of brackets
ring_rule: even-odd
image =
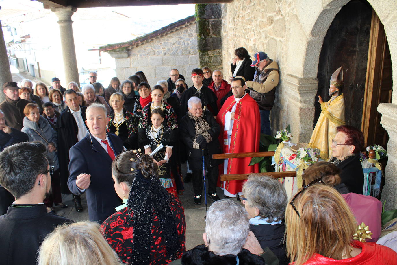
[(256, 70), (254, 80), (245, 82), (245, 85), (251, 89), (250, 96), (259, 106), (260, 132), (270, 135), (270, 110), (274, 105), (279, 81), (278, 64), (266, 52), (257, 52), (251, 66)]

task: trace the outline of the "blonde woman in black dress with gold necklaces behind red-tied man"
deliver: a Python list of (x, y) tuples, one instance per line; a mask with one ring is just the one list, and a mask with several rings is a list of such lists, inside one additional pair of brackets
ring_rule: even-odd
[(116, 134), (123, 140), (127, 150), (137, 147), (138, 122), (134, 115), (123, 108), (124, 99), (121, 93), (113, 93), (110, 96), (110, 106), (113, 110), (108, 115), (108, 132)]

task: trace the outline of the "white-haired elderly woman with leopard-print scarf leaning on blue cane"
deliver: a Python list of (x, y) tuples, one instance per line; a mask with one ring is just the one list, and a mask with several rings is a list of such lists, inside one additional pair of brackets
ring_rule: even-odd
[(203, 111), (201, 99), (191, 97), (187, 101), (188, 112), (181, 120), (180, 135), (182, 141), (189, 150), (189, 168), (193, 171), (193, 189), (195, 191), (194, 202), (201, 203), (202, 193), (202, 150), (204, 150), (205, 169), (208, 172), (208, 196), (213, 201), (219, 200), (216, 194), (218, 182), (218, 165), (222, 159), (212, 159), (212, 154), (222, 153), (218, 141), (221, 131), (220, 125), (209, 111)]

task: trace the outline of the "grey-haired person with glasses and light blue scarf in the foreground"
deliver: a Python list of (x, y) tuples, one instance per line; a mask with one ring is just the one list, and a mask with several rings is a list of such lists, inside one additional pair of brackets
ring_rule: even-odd
[(249, 228), (262, 248), (269, 247), (280, 265), (289, 263), (283, 237), (287, 193), (284, 186), (269, 176), (251, 174), (243, 185), (241, 202), (249, 215)]

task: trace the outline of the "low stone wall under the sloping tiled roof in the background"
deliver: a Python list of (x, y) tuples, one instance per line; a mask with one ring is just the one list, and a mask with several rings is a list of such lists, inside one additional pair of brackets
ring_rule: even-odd
[[(151, 86), (168, 79), (172, 68), (189, 77), (191, 70), (199, 66), (196, 36), (194, 21), (138, 46), (130, 46), (127, 58), (116, 58), (116, 76), (123, 81), (135, 72), (143, 71)], [(189, 81), (187, 78), (191, 85)]]

